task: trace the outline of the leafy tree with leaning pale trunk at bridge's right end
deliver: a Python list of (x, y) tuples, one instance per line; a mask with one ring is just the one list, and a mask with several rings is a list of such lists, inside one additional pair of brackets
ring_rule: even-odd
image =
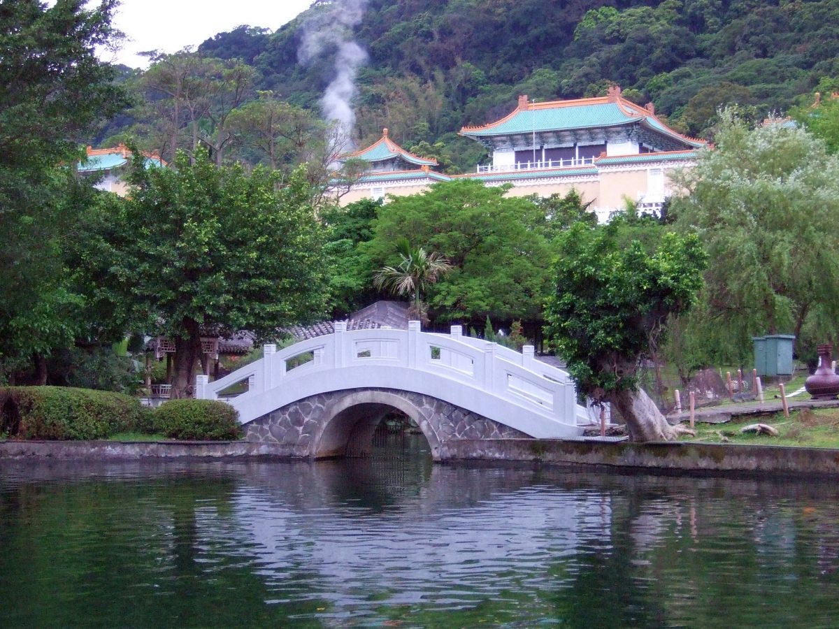
[(690, 309), (701, 288), (706, 254), (696, 235), (660, 233), (644, 245), (631, 221), (577, 223), (558, 237), (555, 292), (547, 302), (548, 335), (583, 393), (611, 402), (635, 441), (675, 439), (638, 387), (638, 364)]

